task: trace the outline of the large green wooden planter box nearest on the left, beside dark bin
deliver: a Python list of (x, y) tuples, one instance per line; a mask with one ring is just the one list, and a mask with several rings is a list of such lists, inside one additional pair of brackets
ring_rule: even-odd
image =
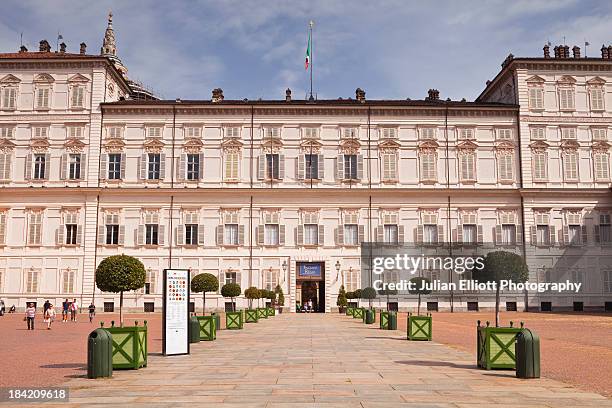
[(147, 366), (147, 321), (144, 323), (144, 326), (135, 322), (131, 327), (115, 327), (113, 321), (106, 329), (113, 340), (113, 369)]

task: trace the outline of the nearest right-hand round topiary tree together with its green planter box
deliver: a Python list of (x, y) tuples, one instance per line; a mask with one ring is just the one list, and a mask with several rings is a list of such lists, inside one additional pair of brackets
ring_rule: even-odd
[[(500, 281), (512, 280), (525, 282), (529, 278), (529, 269), (522, 256), (508, 251), (489, 252), (484, 258), (484, 267), (474, 269), (472, 276), (479, 282), (495, 284), (495, 327), (477, 326), (477, 365), (487, 370), (491, 368), (516, 368), (514, 343), (521, 328), (499, 327)], [(492, 352), (495, 349), (495, 352)]]

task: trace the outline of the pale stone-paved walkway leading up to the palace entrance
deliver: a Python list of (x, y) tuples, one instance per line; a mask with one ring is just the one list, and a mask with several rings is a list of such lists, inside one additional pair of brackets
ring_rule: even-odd
[(149, 356), (146, 369), (112, 379), (72, 379), (62, 406), (612, 407), (554, 380), (478, 370), (468, 353), (337, 314), (280, 315), (191, 350)]

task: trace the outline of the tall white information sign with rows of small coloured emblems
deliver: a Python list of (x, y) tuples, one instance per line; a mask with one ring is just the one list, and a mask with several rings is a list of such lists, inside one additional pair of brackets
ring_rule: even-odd
[(189, 283), (187, 269), (164, 269), (164, 356), (189, 354)]

